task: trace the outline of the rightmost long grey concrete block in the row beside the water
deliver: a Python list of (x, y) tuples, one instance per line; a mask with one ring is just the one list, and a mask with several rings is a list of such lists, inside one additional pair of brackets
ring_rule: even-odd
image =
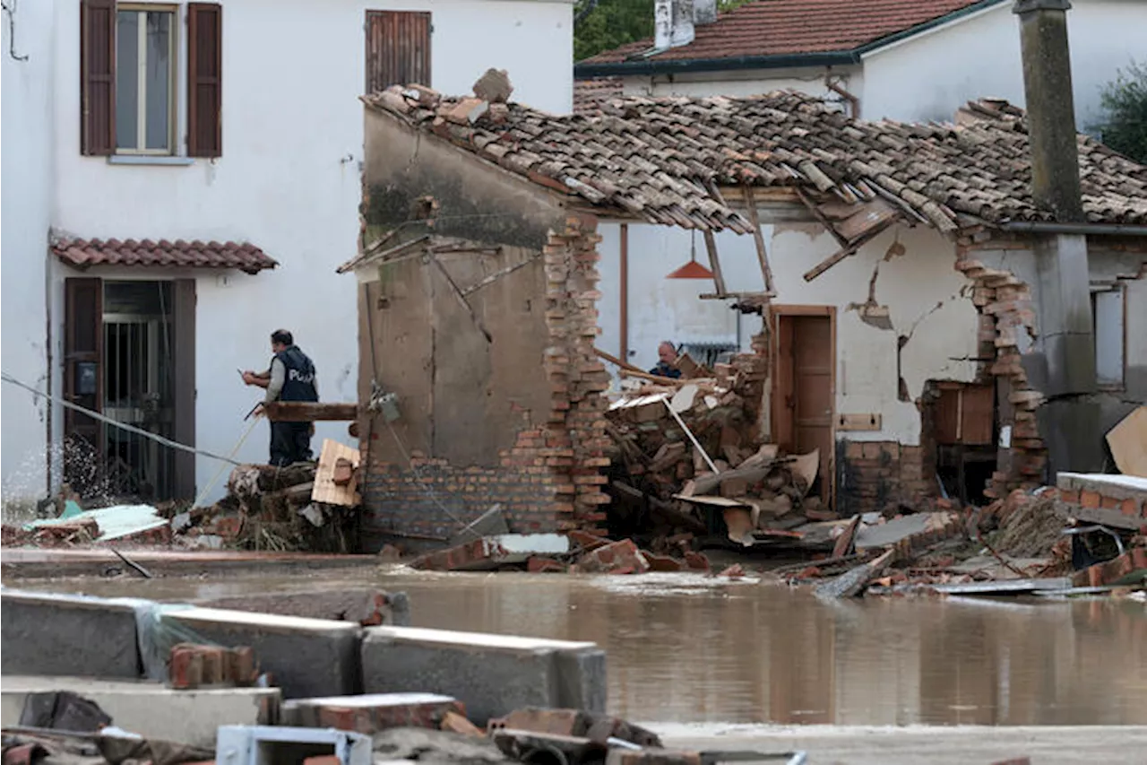
[(522, 706), (602, 711), (604, 651), (577, 643), (509, 635), (373, 627), (362, 641), (366, 693), (447, 694), (485, 725)]

